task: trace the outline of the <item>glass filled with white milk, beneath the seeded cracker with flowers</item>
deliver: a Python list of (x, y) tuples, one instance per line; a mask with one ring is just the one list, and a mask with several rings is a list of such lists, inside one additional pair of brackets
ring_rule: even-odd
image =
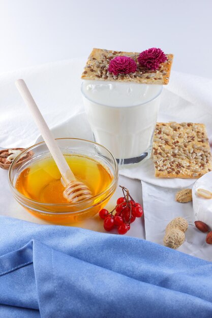
[(162, 87), (83, 81), (83, 102), (94, 139), (113, 153), (119, 165), (150, 156)]

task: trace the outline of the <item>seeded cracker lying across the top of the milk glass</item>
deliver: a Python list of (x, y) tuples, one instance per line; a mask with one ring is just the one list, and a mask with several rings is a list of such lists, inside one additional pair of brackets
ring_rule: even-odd
[[(120, 82), (135, 82), (141, 84), (164, 84), (169, 82), (173, 54), (166, 54), (167, 61), (160, 64), (157, 71), (150, 71), (140, 67), (137, 58), (140, 53), (137, 52), (121, 52), (103, 49), (93, 49), (90, 53), (82, 79), (101, 80), (101, 81), (120, 81)], [(133, 58), (137, 63), (137, 71), (130, 74), (113, 75), (108, 72), (109, 62), (115, 56), (125, 55)]]

